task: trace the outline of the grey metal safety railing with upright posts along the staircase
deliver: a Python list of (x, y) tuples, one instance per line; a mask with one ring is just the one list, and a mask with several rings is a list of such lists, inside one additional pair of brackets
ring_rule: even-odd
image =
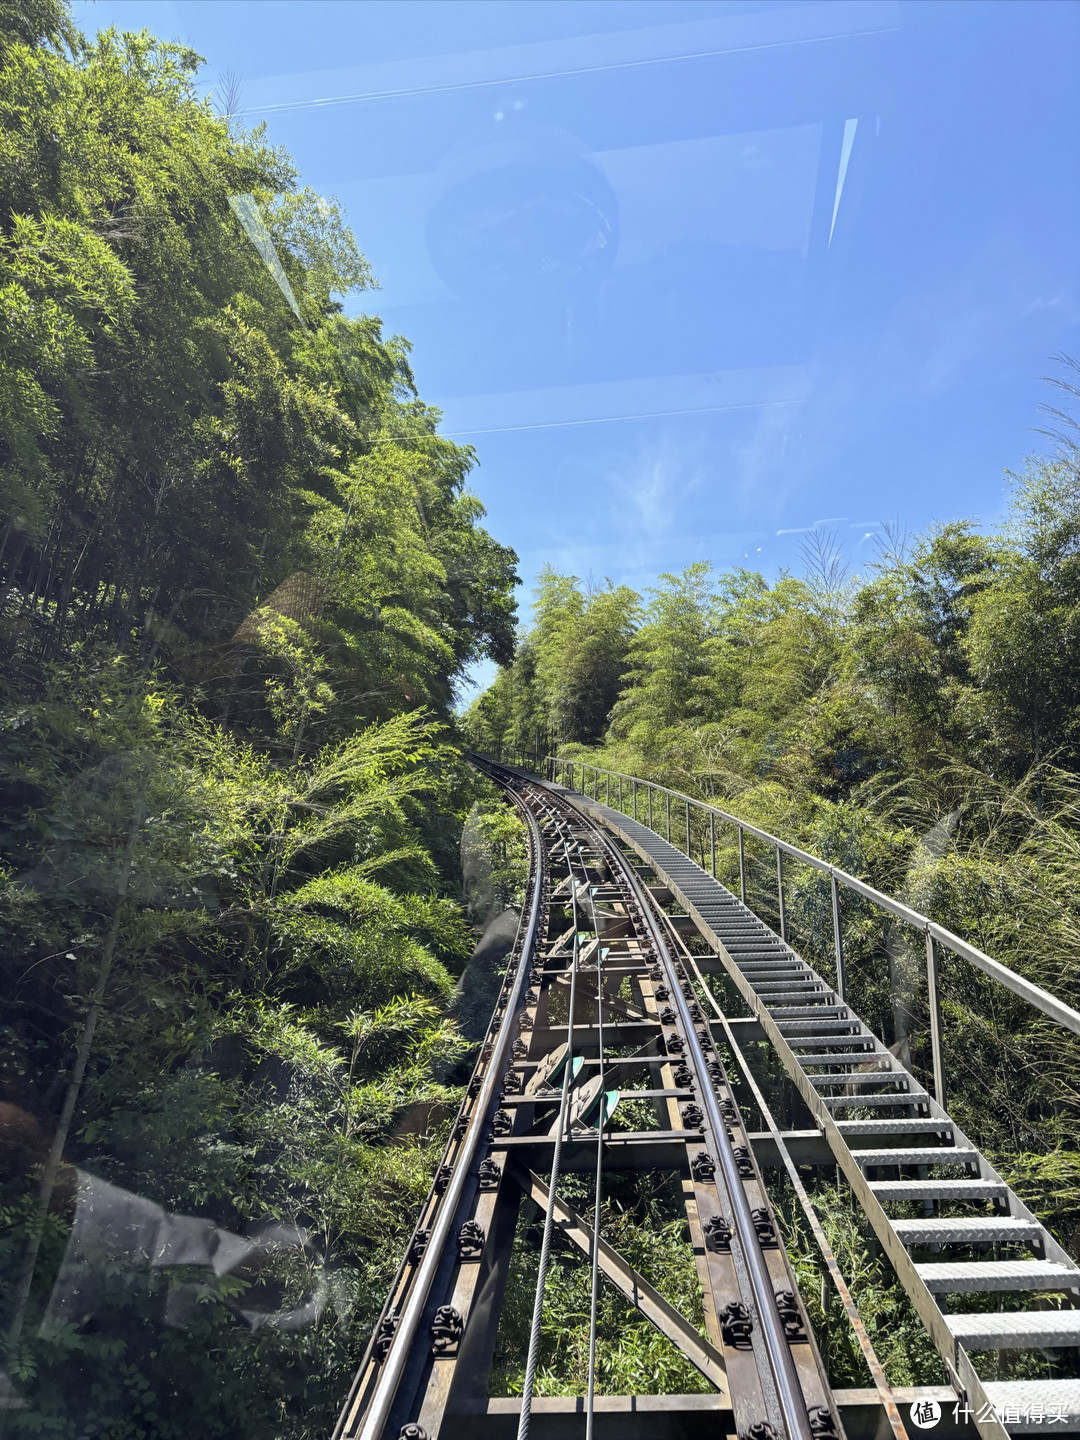
[[(606, 805), (613, 805), (619, 811), (632, 815), (635, 821), (639, 819), (642, 824), (647, 824), (649, 829), (657, 829), (658, 834), (665, 835), (671, 844), (678, 844), (680, 838), (684, 838), (685, 844), (683, 848), (687, 855), (693, 855), (691, 815), (698, 815), (701, 818), (700, 829), (703, 841), (700, 847), (701, 864), (703, 868), (708, 870), (713, 878), (717, 878), (717, 825), (732, 827), (737, 835), (739, 897), (743, 903), (746, 903), (747, 884), (746, 840), (747, 837), (752, 837), (753, 840), (762, 841), (766, 847), (770, 847), (776, 855), (776, 907), (779, 912), (779, 933), (780, 939), (785, 942), (788, 939), (788, 906), (783, 877), (785, 858), (809, 865), (812, 870), (828, 876), (832, 900), (832, 953), (837, 969), (837, 994), (841, 1001), (847, 998), (844, 975), (844, 929), (840, 901), (841, 890), (848, 890), (852, 894), (861, 896), (861, 899), (868, 900), (878, 910), (883, 910), (900, 920), (903, 924), (919, 930), (926, 946), (926, 984), (930, 1017), (930, 1060), (935, 1099), (942, 1106), (945, 1104), (946, 1084), (945, 1056), (942, 1048), (940, 950), (948, 950), (949, 953), (968, 960), (998, 985), (1005, 986), (1005, 989), (1012, 991), (1014, 995), (1027, 1001), (1027, 1004), (1034, 1007), (1034, 1009), (1041, 1011), (1041, 1014), (1047, 1018), (1057, 1021), (1058, 1025), (1064, 1025), (1067, 1030), (1071, 1030), (1073, 1034), (1080, 1035), (1080, 1011), (1073, 1009), (1071, 1005), (1067, 1005), (1056, 995), (1051, 995), (1050, 991), (1043, 989), (1041, 985), (1035, 985), (1034, 981), (1011, 971), (1007, 965), (1002, 965), (999, 960), (995, 960), (992, 956), (984, 953), (975, 945), (969, 945), (968, 940), (960, 939), (959, 935), (955, 935), (943, 924), (937, 924), (936, 920), (930, 920), (927, 916), (919, 914), (917, 910), (912, 910), (910, 906), (906, 906), (903, 901), (894, 900), (881, 890), (876, 890), (874, 886), (867, 884), (865, 880), (860, 880), (857, 876), (848, 874), (847, 870), (841, 870), (838, 865), (832, 865), (827, 860), (821, 860), (819, 855), (812, 855), (809, 851), (801, 850), (798, 845), (792, 845), (789, 841), (780, 840), (778, 835), (770, 835), (769, 831), (760, 829), (757, 825), (752, 825), (749, 821), (740, 819), (737, 815), (732, 815), (716, 805), (708, 805), (706, 801), (696, 799), (693, 795), (684, 795), (681, 791), (670, 789), (667, 785), (660, 785), (657, 780), (647, 780), (635, 775), (622, 775), (618, 770), (608, 770), (598, 765), (589, 765), (585, 760), (566, 760), (556, 755), (540, 755), (539, 752), (520, 749), (511, 750), (508, 747), (503, 747), (495, 757), (501, 759), (504, 763), (517, 765), (521, 769), (531, 769), (534, 775), (543, 775), (554, 783), (564, 785), (569, 791), (576, 789), (579, 793), (590, 796), (592, 799), (603, 801)], [(603, 795), (600, 793), (602, 789)], [(615, 791), (613, 795), (612, 789)], [(638, 815), (639, 798), (642, 811), (641, 815)], [(657, 802), (660, 802), (660, 805), (657, 805)], [(626, 805), (629, 806), (628, 811), (625, 811)], [(671, 828), (672, 805), (675, 809), (675, 840), (672, 840)], [(658, 829), (658, 825), (655, 824), (657, 821), (662, 825), (662, 829)], [(708, 835), (707, 864), (704, 854), (706, 828)], [(683, 831), (681, 837), (678, 834), (680, 831)]]

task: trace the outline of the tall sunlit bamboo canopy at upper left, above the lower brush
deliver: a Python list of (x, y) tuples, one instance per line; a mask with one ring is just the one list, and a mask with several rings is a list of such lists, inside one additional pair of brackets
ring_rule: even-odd
[[(197, 98), (183, 46), (111, 30), (66, 55), (60, 10), (7, 9), (0, 661), (24, 674), (107, 641), (199, 681), (233, 724), (274, 732), (285, 706), (294, 747), (445, 711), (464, 667), (510, 657), (516, 562), (405, 341), (344, 315), (373, 281), (337, 204)], [(300, 573), (310, 603), (289, 606)], [(253, 600), (307, 638), (246, 622)]]

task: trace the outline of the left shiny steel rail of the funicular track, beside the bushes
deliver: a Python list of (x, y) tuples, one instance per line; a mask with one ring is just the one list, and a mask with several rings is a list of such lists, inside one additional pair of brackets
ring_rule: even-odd
[[(376, 1381), (372, 1398), (364, 1411), (363, 1424), (357, 1431), (357, 1440), (383, 1440), (383, 1431), (386, 1430), (390, 1411), (397, 1397), (397, 1388), (402, 1382), (405, 1367), (409, 1361), (413, 1341), (416, 1338), (416, 1331), (419, 1329), (420, 1319), (423, 1318), (423, 1312), (428, 1305), (428, 1296), (431, 1293), (432, 1283), (435, 1282), (435, 1274), (442, 1263), (444, 1251), (446, 1250), (451, 1238), (451, 1230), (454, 1227), (454, 1221), (456, 1220), (458, 1207), (465, 1191), (465, 1182), (469, 1178), (472, 1162), (475, 1161), (477, 1151), (482, 1142), (484, 1128), (480, 1122), (491, 1109), (491, 1104), (503, 1084), (503, 1073), (505, 1071), (513, 1044), (511, 1035), (514, 1027), (510, 1025), (508, 1021), (510, 1017), (520, 1008), (520, 1001), (528, 978), (528, 956), (536, 940), (537, 924), (540, 920), (540, 903), (544, 888), (544, 847), (540, 835), (540, 825), (530, 808), (514, 793), (513, 789), (508, 789), (508, 793), (514, 796), (514, 801), (527, 822), (530, 848), (533, 852), (533, 894), (528, 906), (528, 919), (521, 936), (521, 945), (520, 948), (516, 946), (518, 956), (517, 975), (514, 976), (514, 985), (507, 999), (507, 1022), (500, 1027), (498, 1038), (492, 1047), (491, 1060), (484, 1073), (480, 1094), (477, 1096), (477, 1103), (472, 1110), (472, 1120), (465, 1132), (461, 1149), (458, 1151), (454, 1174), (451, 1175), (449, 1185), (446, 1187), (442, 1204), (436, 1212), (435, 1224), (432, 1225), (431, 1240), (423, 1251), (423, 1259), (420, 1260), (409, 1296), (405, 1302), (405, 1309), (397, 1322), (397, 1328), (395, 1329), (393, 1344), (380, 1368), (379, 1380)], [(338, 1428), (337, 1434), (343, 1433), (346, 1431)]]

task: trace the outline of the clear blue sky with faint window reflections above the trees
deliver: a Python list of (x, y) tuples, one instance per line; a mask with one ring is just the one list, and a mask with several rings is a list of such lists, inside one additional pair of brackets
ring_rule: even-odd
[(490, 528), (636, 586), (1001, 513), (1080, 354), (1073, 0), (79, 0), (336, 194)]

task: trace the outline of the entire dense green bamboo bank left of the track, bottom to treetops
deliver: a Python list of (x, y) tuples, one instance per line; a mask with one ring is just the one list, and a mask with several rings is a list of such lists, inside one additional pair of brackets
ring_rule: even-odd
[(516, 560), (197, 65), (0, 4), (6, 1434), (328, 1433), (471, 1053)]

